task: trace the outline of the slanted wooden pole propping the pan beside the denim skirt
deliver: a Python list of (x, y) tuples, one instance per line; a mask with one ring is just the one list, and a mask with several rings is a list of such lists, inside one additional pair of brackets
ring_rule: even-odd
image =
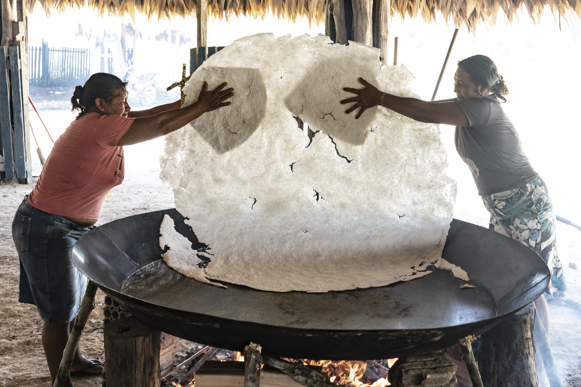
[(85, 324), (89, 319), (89, 314), (93, 310), (93, 301), (95, 301), (95, 293), (97, 292), (97, 285), (92, 281), (87, 284), (85, 296), (81, 302), (81, 309), (77, 314), (77, 321), (74, 323), (73, 331), (69, 335), (67, 346), (63, 351), (63, 359), (60, 360), (59, 372), (56, 374), (55, 384), (53, 387), (63, 387), (64, 382), (69, 377), (71, 364), (73, 363), (74, 353), (77, 351), (78, 341), (81, 339), (81, 333), (85, 329)]

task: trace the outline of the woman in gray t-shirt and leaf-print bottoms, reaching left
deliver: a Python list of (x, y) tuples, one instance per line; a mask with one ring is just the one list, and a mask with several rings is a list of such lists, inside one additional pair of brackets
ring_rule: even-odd
[[(357, 96), (345, 113), (381, 105), (421, 122), (456, 126), (456, 150), (468, 165), (478, 194), (490, 212), (490, 228), (531, 248), (551, 270), (547, 294), (567, 290), (555, 244), (555, 212), (545, 183), (533, 169), (518, 133), (500, 106), (508, 94), (496, 64), (484, 55), (458, 62), (454, 74), (456, 98), (426, 102), (379, 91), (359, 78), (363, 89), (344, 88)], [(547, 302), (535, 305), (548, 332)]]

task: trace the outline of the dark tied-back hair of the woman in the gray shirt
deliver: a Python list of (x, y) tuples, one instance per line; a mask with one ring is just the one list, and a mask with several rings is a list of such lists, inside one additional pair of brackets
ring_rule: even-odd
[(458, 61), (458, 67), (470, 75), (476, 86), (484, 86), (497, 97), (507, 102), (507, 85), (502, 75), (498, 75), (496, 64), (485, 55), (474, 55)]

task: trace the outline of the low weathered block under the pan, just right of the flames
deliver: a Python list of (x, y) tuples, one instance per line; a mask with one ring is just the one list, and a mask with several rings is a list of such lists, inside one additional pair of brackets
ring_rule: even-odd
[(400, 357), (389, 368), (388, 380), (393, 387), (453, 387), (456, 366), (442, 352)]

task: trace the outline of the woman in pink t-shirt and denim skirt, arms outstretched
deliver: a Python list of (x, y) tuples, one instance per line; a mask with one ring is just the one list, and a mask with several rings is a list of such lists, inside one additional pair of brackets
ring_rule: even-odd
[[(207, 111), (228, 106), (234, 89), (213, 91), (204, 82), (198, 101), (131, 111), (127, 82), (97, 73), (77, 86), (71, 102), (80, 110), (56, 140), (37, 184), (24, 197), (12, 223), (20, 258), (19, 302), (37, 306), (44, 324), (42, 345), (52, 383), (80, 308), (87, 279), (71, 262), (74, 243), (95, 227), (105, 196), (124, 178), (123, 146), (180, 129)], [(71, 375), (101, 374), (103, 364), (77, 348)], [(72, 386), (70, 379), (66, 386)]]

